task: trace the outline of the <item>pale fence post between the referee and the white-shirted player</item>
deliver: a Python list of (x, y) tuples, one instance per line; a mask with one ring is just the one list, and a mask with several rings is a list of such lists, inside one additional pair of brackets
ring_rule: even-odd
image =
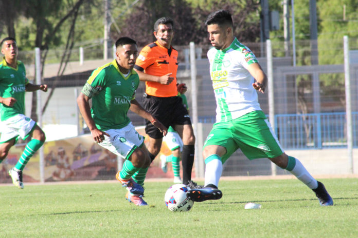
[[(196, 91), (196, 57), (195, 57), (195, 44), (190, 42), (190, 76), (191, 76), (191, 109), (192, 123), (194, 125), (194, 134), (198, 135), (198, 102)], [(202, 171), (199, 171), (199, 163), (202, 162), (198, 155), (198, 140), (195, 140), (195, 177), (203, 177)], [(204, 173), (203, 173), (204, 174)]]

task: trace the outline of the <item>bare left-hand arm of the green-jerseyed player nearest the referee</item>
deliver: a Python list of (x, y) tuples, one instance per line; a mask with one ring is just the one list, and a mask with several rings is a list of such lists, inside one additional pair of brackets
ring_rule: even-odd
[(83, 92), (77, 97), (77, 104), (82, 114), (83, 120), (86, 122), (88, 129), (91, 131), (92, 137), (97, 143), (104, 140), (104, 135), (110, 136), (108, 133), (98, 130), (95, 121), (91, 116), (91, 107), (89, 106), (89, 97)]

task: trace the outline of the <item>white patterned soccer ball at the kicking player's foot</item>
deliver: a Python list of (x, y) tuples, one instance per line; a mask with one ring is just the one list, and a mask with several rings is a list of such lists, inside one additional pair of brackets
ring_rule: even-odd
[(165, 193), (165, 205), (171, 211), (189, 211), (194, 202), (186, 196), (188, 187), (184, 184), (174, 184)]

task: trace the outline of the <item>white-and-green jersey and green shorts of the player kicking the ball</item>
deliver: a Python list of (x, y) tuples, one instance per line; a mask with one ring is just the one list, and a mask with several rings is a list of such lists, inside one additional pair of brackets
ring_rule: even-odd
[(235, 38), (228, 48), (211, 48), (207, 56), (217, 117), (204, 147), (225, 147), (223, 163), (238, 148), (250, 160), (282, 154), (277, 137), (260, 108), (252, 86), (254, 77), (247, 70), (250, 64), (258, 63), (254, 53)]

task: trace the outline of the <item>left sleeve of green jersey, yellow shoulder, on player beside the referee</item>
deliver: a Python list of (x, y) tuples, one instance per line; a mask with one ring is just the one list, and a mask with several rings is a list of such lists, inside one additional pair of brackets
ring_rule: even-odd
[(96, 69), (92, 72), (92, 75), (89, 76), (86, 84), (82, 88), (84, 95), (92, 98), (97, 95), (105, 85), (105, 70)]

